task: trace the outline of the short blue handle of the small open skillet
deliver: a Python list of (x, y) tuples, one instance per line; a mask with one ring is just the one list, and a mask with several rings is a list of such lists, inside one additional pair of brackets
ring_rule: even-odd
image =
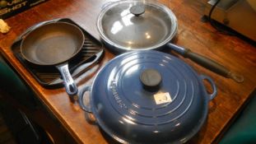
[(68, 70), (68, 64), (64, 63), (62, 65), (58, 65), (58, 71), (61, 73), (64, 81), (64, 85), (68, 95), (76, 95), (77, 94), (77, 85), (72, 79), (72, 76)]

